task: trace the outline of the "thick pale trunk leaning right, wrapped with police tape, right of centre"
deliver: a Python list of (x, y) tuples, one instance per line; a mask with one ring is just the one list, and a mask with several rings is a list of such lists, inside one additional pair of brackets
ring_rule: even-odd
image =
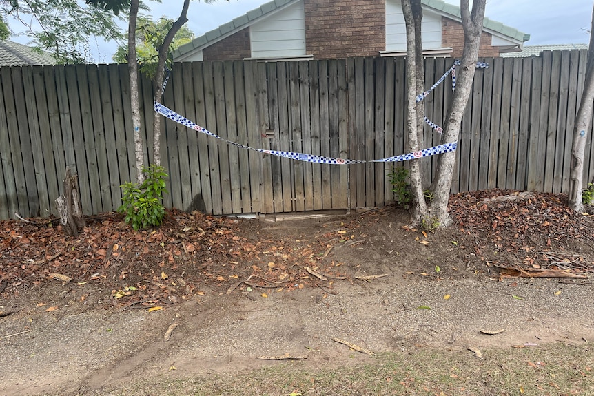
[[(460, 1), (462, 27), (464, 28), (464, 50), (462, 50), (462, 64), (456, 79), (455, 92), (444, 125), (442, 137), (444, 143), (457, 142), (460, 137), (462, 116), (468, 103), (476, 70), (485, 2), (486, 0), (473, 0), (472, 12), (470, 12), (469, 1)], [(431, 202), (431, 217), (439, 222), (440, 228), (447, 227), (452, 223), (447, 205), (454, 165), (455, 152), (440, 155), (436, 180), (433, 182), (433, 202)]]

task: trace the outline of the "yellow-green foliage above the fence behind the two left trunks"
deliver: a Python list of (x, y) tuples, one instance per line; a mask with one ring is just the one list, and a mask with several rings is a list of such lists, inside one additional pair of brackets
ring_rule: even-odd
[[(154, 78), (158, 64), (158, 52), (163, 47), (165, 37), (174, 24), (173, 19), (161, 17), (153, 21), (150, 17), (139, 17), (136, 24), (136, 59), (138, 59), (140, 70), (149, 78)], [(176, 48), (194, 39), (194, 33), (187, 27), (181, 26), (175, 34), (174, 39), (167, 52), (166, 65), (171, 67), (173, 63), (172, 53)], [(127, 62), (128, 46), (120, 45), (114, 54), (114, 62)]]

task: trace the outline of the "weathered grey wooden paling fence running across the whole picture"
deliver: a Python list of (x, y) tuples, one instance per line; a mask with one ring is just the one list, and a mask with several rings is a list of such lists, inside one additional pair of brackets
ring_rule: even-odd
[[(566, 193), (586, 51), (484, 61), (489, 68), (477, 70), (462, 122), (452, 192), (499, 187)], [(427, 59), (427, 86), (452, 62)], [(1, 67), (0, 85), (0, 218), (54, 212), (67, 165), (79, 174), (85, 213), (117, 209), (119, 185), (136, 175), (127, 66)], [(372, 160), (408, 151), (405, 85), (399, 58), (179, 63), (163, 104), (242, 145)], [(150, 81), (141, 79), (149, 142), (152, 96)], [(425, 99), (426, 115), (442, 125), (450, 101), (448, 78)], [(393, 200), (391, 163), (304, 163), (229, 145), (173, 121), (163, 125), (167, 207), (281, 213)], [(442, 143), (429, 127), (425, 141), (427, 147)], [(148, 147), (145, 159), (152, 160)], [(436, 157), (421, 161), (429, 183)], [(590, 130), (584, 182), (592, 178)]]

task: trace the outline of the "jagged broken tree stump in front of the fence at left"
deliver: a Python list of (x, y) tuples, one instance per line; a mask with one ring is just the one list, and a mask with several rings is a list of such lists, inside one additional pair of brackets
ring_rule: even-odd
[(60, 224), (69, 236), (79, 236), (79, 229), (86, 226), (79, 194), (79, 176), (70, 174), (70, 167), (66, 167), (64, 177), (64, 195), (56, 200), (56, 208), (60, 213)]

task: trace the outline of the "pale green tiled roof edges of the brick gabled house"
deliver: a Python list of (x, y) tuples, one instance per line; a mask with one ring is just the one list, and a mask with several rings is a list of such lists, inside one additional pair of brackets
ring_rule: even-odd
[[(190, 41), (190, 43), (181, 45), (177, 50), (174, 51), (174, 59), (178, 59), (180, 56), (187, 54), (188, 52), (194, 52), (194, 50), (202, 50), (203, 48), (207, 47), (208, 45), (216, 43), (225, 37), (230, 36), (240, 30), (247, 28), (249, 25), (252, 25), (254, 21), (264, 17), (267, 14), (271, 14), (272, 12), (279, 11), (282, 8), (289, 6), (291, 3), (296, 3), (300, 0), (272, 0), (268, 3), (263, 4), (262, 6), (247, 12), (246, 14), (233, 19), (230, 22), (225, 23), (224, 25), (219, 26), (214, 30), (210, 30), (206, 32), (200, 37), (196, 37), (196, 39)], [(431, 8), (444, 16), (449, 17), (451, 19), (455, 19), (460, 21), (461, 14), (460, 14), (460, 7), (454, 6), (453, 4), (446, 3), (443, 0), (421, 0), (422, 4), (428, 8)], [(506, 26), (503, 23), (492, 21), (489, 18), (484, 19), (483, 23), (484, 30), (490, 33), (499, 34), (503, 37), (508, 37), (515, 41), (520, 41), (523, 43), (524, 41), (528, 41), (530, 39), (530, 34), (525, 34), (520, 32), (518, 29), (511, 28), (510, 26)]]

